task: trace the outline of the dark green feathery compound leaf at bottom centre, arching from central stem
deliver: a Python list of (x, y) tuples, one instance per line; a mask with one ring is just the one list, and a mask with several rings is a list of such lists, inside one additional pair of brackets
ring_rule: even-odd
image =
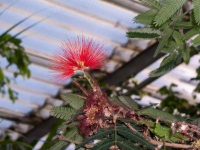
[[(117, 133), (114, 135), (114, 133)], [(117, 136), (117, 137), (116, 137)], [(149, 143), (139, 132), (133, 133), (126, 126), (117, 126), (114, 129), (109, 129), (105, 131), (99, 131), (97, 134), (84, 140), (79, 146), (83, 146), (93, 140), (101, 140), (99, 143), (92, 147), (92, 150), (106, 150), (112, 145), (117, 145), (125, 149), (140, 150), (141, 148), (135, 146), (136, 143), (140, 143), (141, 147), (146, 147), (148, 149), (155, 149), (155, 146)]]

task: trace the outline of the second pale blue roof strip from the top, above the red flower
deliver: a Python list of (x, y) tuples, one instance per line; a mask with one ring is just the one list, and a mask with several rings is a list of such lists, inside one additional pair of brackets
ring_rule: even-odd
[[(7, 2), (7, 4), (8, 3), (9, 2)], [(40, 8), (38, 6), (40, 6)], [(49, 7), (49, 4), (47, 2), (37, 1), (37, 0), (29, 0), (29, 1), (21, 0), (15, 3), (13, 7), (18, 7), (22, 9), (23, 11), (34, 13), (38, 10), (41, 10), (41, 6), (43, 8), (48, 7), (48, 9), (45, 9), (44, 11), (39, 13), (39, 15), (43, 15), (43, 17), (46, 17), (47, 14), (48, 15), (52, 14), (50, 19), (53, 22), (56, 21), (60, 24), (67, 25), (72, 28), (78, 28), (79, 30), (83, 31), (83, 34), (84, 34), (84, 31), (90, 32), (92, 34), (97, 34), (99, 36), (110, 39), (111, 41), (114, 41), (114, 42), (118, 42), (120, 44), (125, 44), (128, 42), (128, 38), (126, 37), (126, 34), (125, 34), (126, 30), (113, 27), (113, 25), (107, 24), (102, 21), (97, 21), (96, 19), (94, 20), (81, 13), (73, 12), (67, 9), (63, 9), (63, 8), (59, 8), (59, 11), (57, 11), (55, 14), (55, 10), (57, 9), (57, 7), (55, 7), (55, 5), (50, 5), (54, 7)], [(44, 12), (46, 14), (44, 14)], [(10, 17), (7, 17), (7, 18), (8, 18), (7, 19), (8, 21)], [(25, 22), (23, 24), (25, 24)]]

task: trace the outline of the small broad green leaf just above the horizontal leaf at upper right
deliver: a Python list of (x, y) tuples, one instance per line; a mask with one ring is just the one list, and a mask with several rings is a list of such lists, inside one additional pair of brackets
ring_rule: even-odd
[(151, 25), (157, 12), (157, 9), (148, 10), (144, 13), (137, 15), (134, 18), (134, 21), (145, 25)]

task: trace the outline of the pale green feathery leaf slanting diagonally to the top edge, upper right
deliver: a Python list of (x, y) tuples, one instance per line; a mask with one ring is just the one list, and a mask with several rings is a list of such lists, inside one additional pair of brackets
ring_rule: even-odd
[(167, 0), (154, 18), (154, 24), (161, 26), (172, 17), (187, 0)]

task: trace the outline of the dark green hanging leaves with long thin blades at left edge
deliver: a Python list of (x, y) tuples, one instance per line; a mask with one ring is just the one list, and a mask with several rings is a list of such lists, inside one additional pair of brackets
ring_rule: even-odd
[[(0, 15), (2, 15), (4, 12), (7, 11), (14, 3), (11, 3), (7, 8), (2, 10), (0, 12)], [(40, 10), (42, 11), (42, 10)], [(28, 55), (25, 53), (24, 47), (21, 45), (21, 39), (18, 38), (19, 35), (21, 35), (26, 30), (34, 27), (35, 25), (39, 24), (41, 21), (45, 20), (46, 18), (39, 20), (28, 27), (22, 29), (18, 33), (11, 35), (9, 34), (10, 31), (12, 31), (15, 27), (19, 26), (21, 23), (25, 22), (35, 14), (39, 13), (40, 11), (37, 11), (22, 20), (18, 21), (16, 24), (8, 28), (6, 31), (4, 31), (0, 35), (0, 56), (4, 57), (8, 61), (8, 66), (6, 66), (6, 69), (11, 66), (15, 65), (17, 67), (17, 71), (15, 71), (14, 78), (16, 78), (18, 75), (22, 75), (23, 77), (30, 77), (30, 70), (28, 68), (30, 64), (30, 60)], [(17, 99), (17, 93), (13, 91), (10, 87), (5, 88), (5, 85), (10, 84), (10, 78), (4, 75), (3, 69), (0, 68), (0, 93), (4, 95), (6, 92), (9, 94), (9, 97), (12, 101), (15, 101)]]

